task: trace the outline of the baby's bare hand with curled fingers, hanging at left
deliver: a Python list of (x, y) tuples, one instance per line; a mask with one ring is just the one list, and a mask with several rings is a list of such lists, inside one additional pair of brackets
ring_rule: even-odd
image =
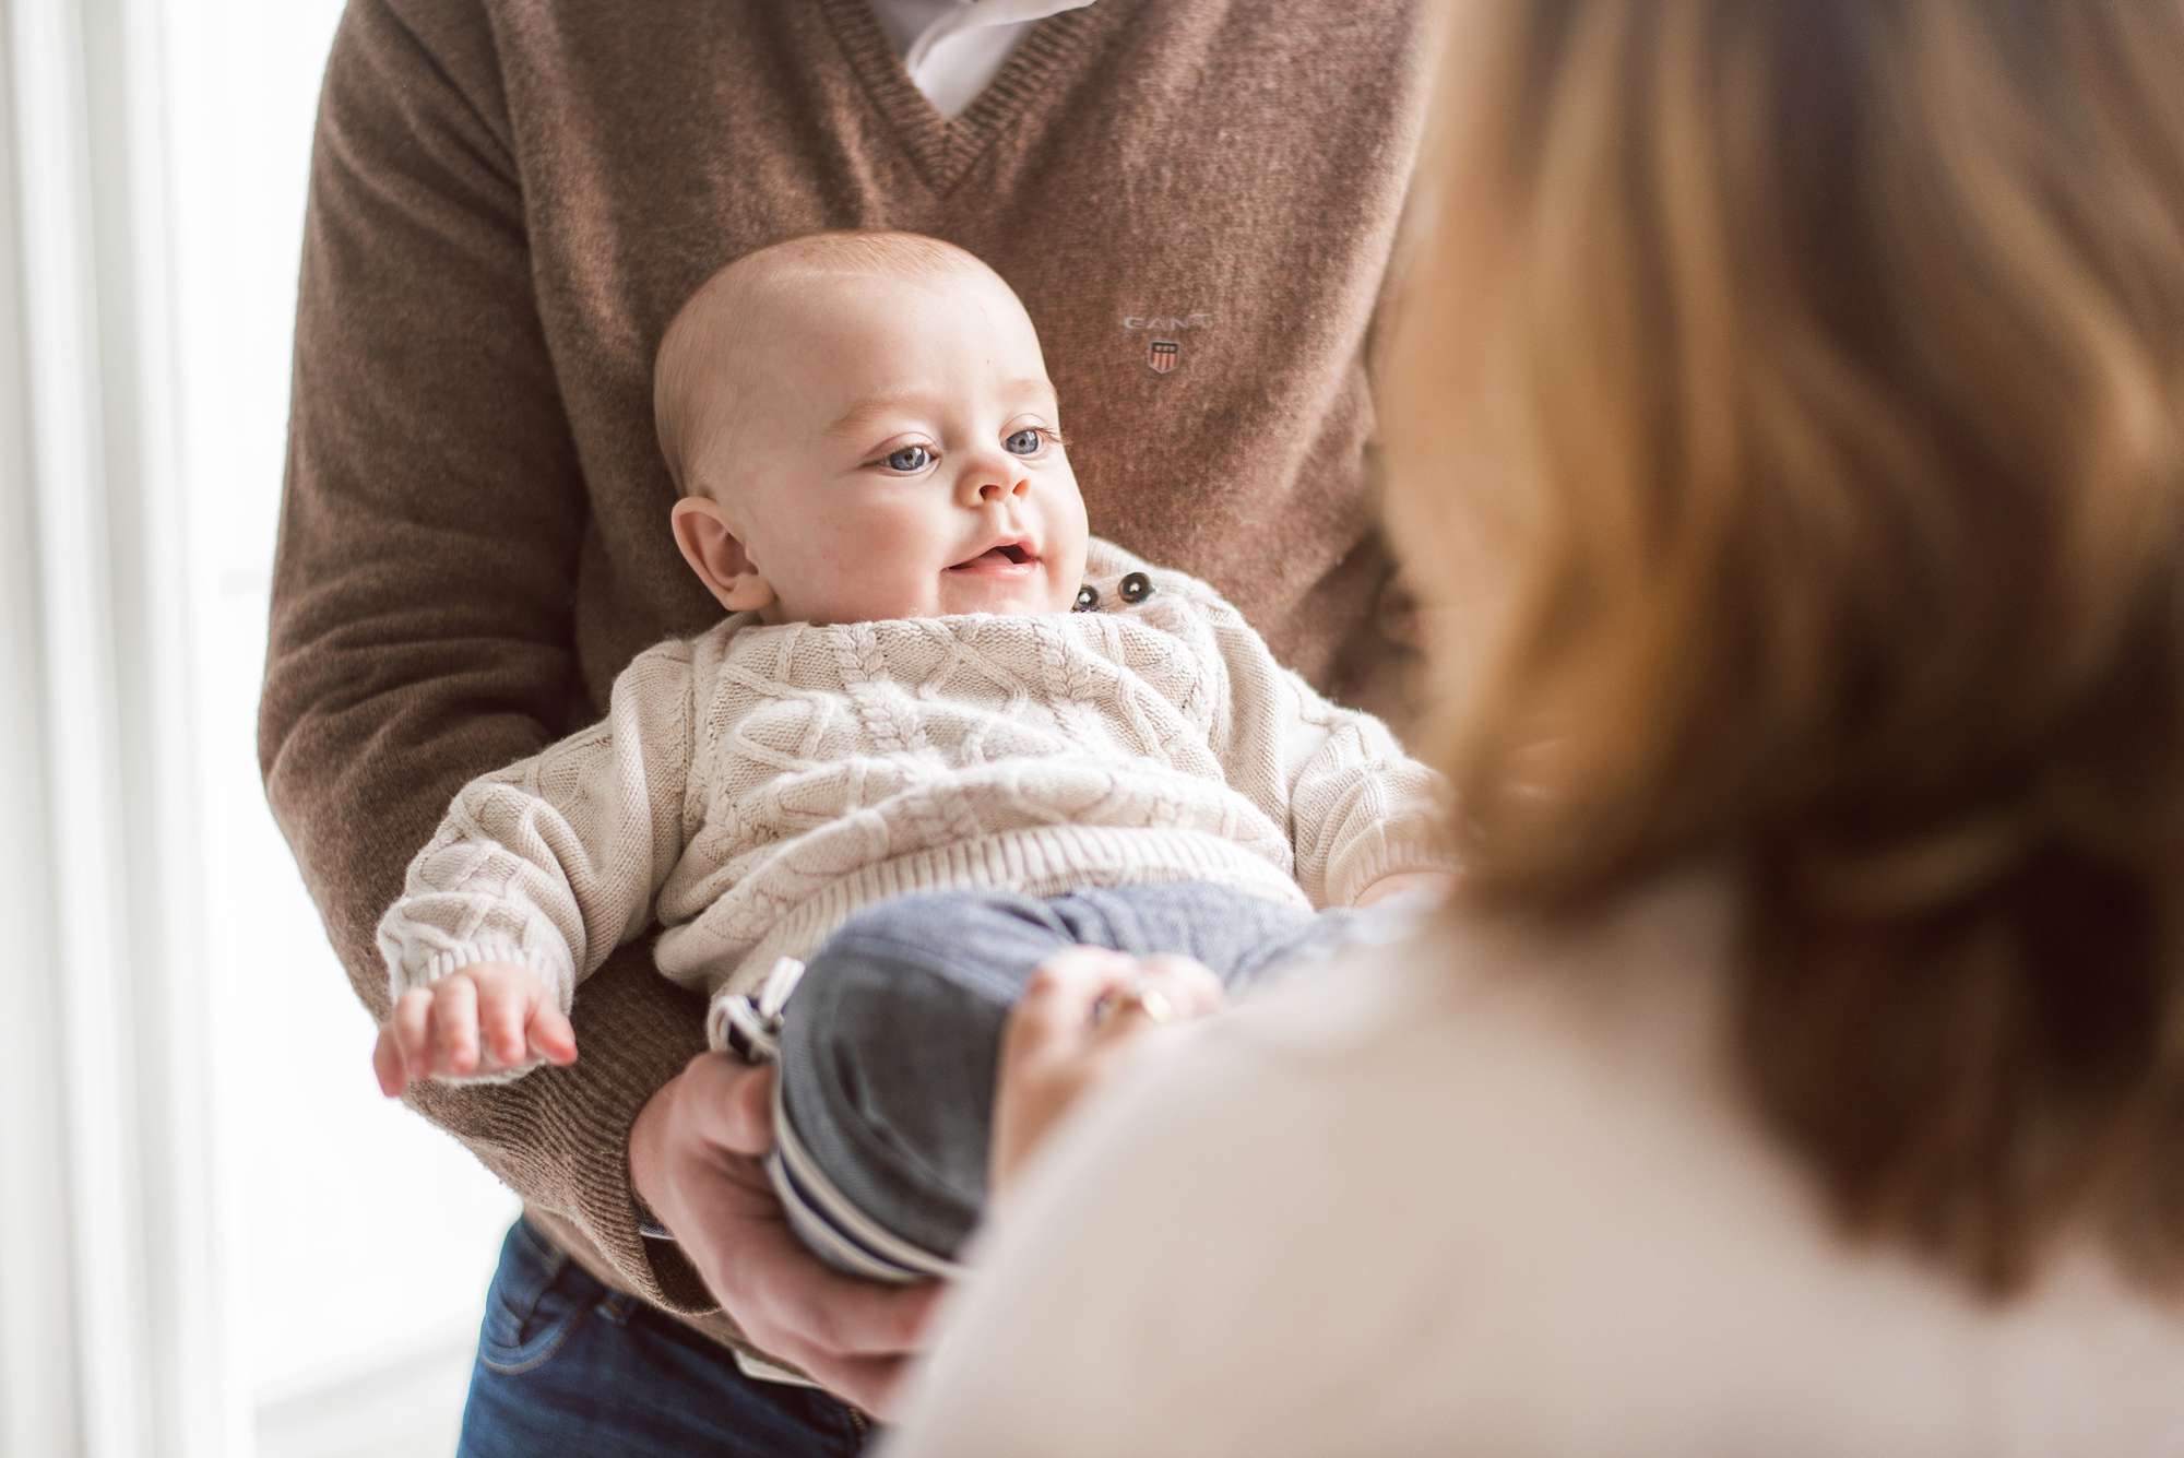
[(513, 963), (474, 963), (402, 993), (371, 1050), (387, 1098), (424, 1078), (472, 1078), (537, 1061), (574, 1063), (577, 1030), (539, 976)]

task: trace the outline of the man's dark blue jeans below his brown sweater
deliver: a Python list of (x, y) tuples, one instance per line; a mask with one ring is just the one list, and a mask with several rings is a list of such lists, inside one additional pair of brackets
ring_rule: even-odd
[(459, 1458), (839, 1458), (867, 1419), (753, 1382), (673, 1316), (601, 1286), (526, 1220), (485, 1294)]

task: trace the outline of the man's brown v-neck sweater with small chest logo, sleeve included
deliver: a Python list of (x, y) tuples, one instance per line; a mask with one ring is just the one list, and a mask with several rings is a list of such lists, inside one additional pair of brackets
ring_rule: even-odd
[[(1420, 0), (1101, 0), (957, 120), (865, 0), (352, 0), (312, 157), (260, 755), (373, 1015), (450, 797), (719, 609), (668, 535), (651, 360), (729, 258), (823, 227), (978, 253), (1046, 347), (1094, 530), (1212, 581), (1334, 694), (1385, 664), (1367, 345), (1417, 153)], [(594, 1272), (627, 1133), (701, 1048), (633, 943), (583, 1056), (417, 1107)], [(705, 1329), (727, 1336), (719, 1318)]]

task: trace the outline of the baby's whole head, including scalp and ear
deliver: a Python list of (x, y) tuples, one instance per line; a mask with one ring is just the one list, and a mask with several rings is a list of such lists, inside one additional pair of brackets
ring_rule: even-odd
[(653, 371), (675, 543), (771, 622), (1057, 613), (1085, 506), (1016, 292), (915, 234), (747, 253), (684, 303)]

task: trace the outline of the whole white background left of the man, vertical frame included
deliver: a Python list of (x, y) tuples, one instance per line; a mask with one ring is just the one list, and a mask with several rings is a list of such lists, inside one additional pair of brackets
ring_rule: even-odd
[[(17, 203), (0, 205), (0, 692), (37, 709), (0, 727), (0, 764), (57, 770), (0, 775), (0, 814), (55, 832), (0, 849), (0, 912), (35, 936), (50, 891), (57, 952), (31, 941), (31, 960), (85, 963), (85, 991), (52, 1006), (17, 1002), (22, 963), (0, 973), (68, 1054), (46, 1056), (61, 1098), (44, 1118), (13, 1118), (37, 1048), (0, 1069), (0, 1192), (22, 1192), (0, 1205), (9, 1454), (446, 1454), (515, 1209), (378, 1098), (371, 1028), (258, 781), (304, 183), (339, 11), (0, 0), (17, 41), (0, 76), (28, 83), (0, 107), (0, 201)], [(26, 109), (35, 138), (7, 120)], [(68, 297), (41, 299), (55, 277)], [(57, 364), (68, 380), (44, 380)], [(68, 880), (41, 891), (46, 864)], [(111, 917), (87, 915), (100, 897)], [(122, 1026), (94, 1035), (107, 1019)]]

